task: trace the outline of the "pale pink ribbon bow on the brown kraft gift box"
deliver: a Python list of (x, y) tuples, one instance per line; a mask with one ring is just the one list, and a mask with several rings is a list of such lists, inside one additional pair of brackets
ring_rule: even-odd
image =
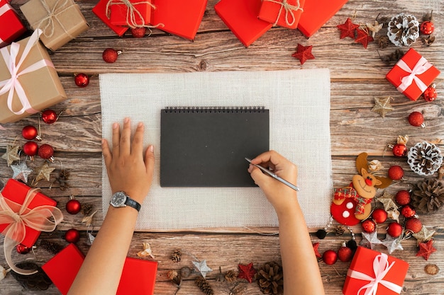
[[(50, 60), (42, 59), (38, 62), (35, 62), (34, 64), (31, 64), (26, 69), (21, 69), (21, 66), (26, 57), (28, 57), (30, 50), (35, 44), (37, 44), (38, 38), (40, 37), (41, 33), (42, 31), (40, 29), (37, 29), (34, 31), (33, 35), (30, 36), (30, 39), (28, 40), (28, 43), (26, 44), (25, 49), (23, 50), (21, 58), (20, 60), (18, 60), (18, 62), (16, 61), (18, 57), (18, 51), (20, 49), (20, 45), (18, 43), (13, 42), (11, 44), (11, 52), (8, 52), (6, 47), (0, 48), (1, 57), (3, 57), (6, 63), (6, 68), (9, 70), (9, 74), (11, 74), (10, 79), (0, 81), (0, 96), (8, 93), (7, 105), (9, 110), (11, 110), (11, 112), (13, 112), (15, 115), (21, 115), (23, 114), (23, 112), (29, 112), (30, 114), (35, 114), (36, 112), (38, 112), (38, 110), (34, 110), (33, 107), (30, 105), (28, 96), (26, 96), (25, 90), (23, 89), (23, 86), (21, 86), (20, 81), (18, 81), (18, 78), (21, 75), (28, 74), (32, 71), (37, 71), (38, 69), (41, 69), (45, 66), (54, 67)], [(21, 110), (18, 111), (14, 111), (12, 108), (14, 93), (17, 93), (18, 99), (20, 100), (22, 105)]]

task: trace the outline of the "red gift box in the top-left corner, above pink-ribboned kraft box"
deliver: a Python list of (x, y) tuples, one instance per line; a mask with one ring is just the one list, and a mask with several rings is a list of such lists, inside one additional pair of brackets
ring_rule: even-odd
[[(16, 11), (6, 0), (0, 0), (0, 47), (9, 45), (13, 40), (26, 32)], [(7, 25), (6, 25), (7, 24)]]

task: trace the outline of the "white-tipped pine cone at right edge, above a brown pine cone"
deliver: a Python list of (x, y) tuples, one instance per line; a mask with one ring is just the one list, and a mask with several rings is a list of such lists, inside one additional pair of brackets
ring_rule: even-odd
[(411, 170), (423, 176), (433, 175), (443, 163), (443, 155), (438, 146), (427, 141), (412, 146), (407, 157)]

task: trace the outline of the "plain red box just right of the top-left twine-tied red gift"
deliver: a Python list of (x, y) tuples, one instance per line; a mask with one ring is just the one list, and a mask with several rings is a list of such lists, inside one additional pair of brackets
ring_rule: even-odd
[(155, 0), (151, 24), (160, 30), (194, 40), (207, 0)]

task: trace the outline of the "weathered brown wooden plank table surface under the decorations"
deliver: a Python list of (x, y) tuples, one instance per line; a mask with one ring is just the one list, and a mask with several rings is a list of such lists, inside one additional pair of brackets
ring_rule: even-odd
[[(13, 2), (18, 8), (26, 0)], [(51, 181), (41, 181), (38, 187), (57, 200), (64, 213), (65, 220), (54, 233), (43, 233), (41, 239), (49, 239), (62, 245), (67, 229), (81, 231), (79, 248), (87, 253), (87, 229), (82, 224), (82, 214), (70, 215), (65, 211), (65, 204), (70, 195), (80, 202), (93, 204), (99, 212), (94, 218), (94, 231), (99, 229), (101, 214), (101, 107), (99, 79), (97, 74), (121, 72), (187, 72), (187, 71), (252, 71), (272, 69), (313, 69), (328, 68), (331, 71), (331, 149), (333, 161), (333, 183), (335, 187), (348, 185), (355, 173), (355, 156), (366, 151), (371, 158), (379, 159), (388, 168), (400, 165), (406, 170), (406, 181), (396, 183), (387, 190), (396, 193), (401, 189), (409, 189), (412, 184), (422, 180), (420, 176), (409, 170), (405, 158), (395, 158), (391, 151), (385, 150), (389, 143), (394, 143), (398, 135), (409, 135), (408, 146), (418, 141), (431, 141), (441, 148), (444, 144), (444, 98), (443, 74), (435, 81), (438, 88), (438, 100), (426, 103), (420, 98), (410, 101), (396, 91), (386, 79), (385, 74), (392, 64), (385, 64), (379, 58), (391, 54), (397, 47), (389, 45), (379, 49), (376, 43), (365, 50), (362, 45), (350, 38), (340, 40), (336, 25), (344, 23), (348, 17), (355, 16), (355, 23), (371, 23), (380, 13), (380, 17), (391, 18), (405, 12), (412, 13), (419, 19), (423, 14), (433, 10), (435, 17), (436, 40), (432, 46), (426, 47), (418, 40), (412, 46), (441, 71), (444, 70), (444, 1), (438, 0), (399, 0), (399, 1), (358, 1), (350, 0), (345, 6), (324, 25), (318, 33), (307, 40), (299, 30), (272, 28), (248, 49), (235, 38), (226, 25), (214, 12), (217, 0), (209, 0), (206, 12), (194, 42), (160, 30), (153, 30), (150, 36), (135, 39), (127, 33), (124, 37), (116, 36), (93, 13), (91, 8), (96, 0), (79, 1), (85, 18), (91, 28), (67, 43), (56, 52), (51, 53), (52, 62), (60, 75), (68, 100), (55, 105), (52, 109), (62, 112), (60, 120), (54, 125), (42, 126), (45, 143), (55, 147), (54, 166)], [(3, 24), (1, 24), (3, 25)], [(295, 47), (313, 45), (316, 59), (309, 60), (303, 66), (292, 57)], [(101, 59), (101, 52), (107, 47), (123, 50), (123, 54), (114, 64), (106, 64)], [(401, 48), (406, 51), (407, 48)], [(94, 75), (87, 88), (79, 88), (74, 84), (73, 74), (83, 72)], [(316, 89), (313, 89), (316, 91)], [(385, 118), (372, 112), (374, 98), (392, 96), (394, 110)], [(423, 112), (427, 127), (412, 127), (406, 117), (410, 112)], [(4, 154), (6, 144), (23, 144), (21, 129), (28, 124), (37, 125), (37, 117), (31, 116), (20, 122), (6, 125), (7, 130), (1, 132), (0, 154)], [(316, 122), (313, 122), (316, 124)], [(309, 143), (308, 143), (309, 144)], [(320, 153), (323, 151), (319, 151)], [(36, 159), (29, 163), (31, 168), (42, 163)], [(0, 180), (6, 182), (11, 178), (11, 168), (0, 161)], [(54, 183), (61, 168), (70, 171), (69, 188), (60, 190)], [(30, 176), (32, 178), (33, 175)], [(52, 183), (52, 185), (51, 185)], [(378, 195), (382, 194), (379, 190)], [(402, 243), (404, 250), (393, 253), (410, 263), (404, 288), (401, 294), (444, 294), (444, 209), (435, 214), (421, 214), (424, 225), (436, 231), (433, 253), (428, 261), (416, 257), (416, 241), (411, 238)], [(314, 233), (317, 229), (311, 229)], [(385, 236), (385, 225), (379, 227), (379, 238)], [(159, 262), (155, 294), (174, 294), (176, 287), (167, 278), (168, 270), (179, 270), (183, 266), (192, 266), (193, 258), (183, 255), (182, 261), (174, 263), (170, 255), (176, 248), (191, 253), (199, 260), (206, 259), (213, 269), (207, 277), (215, 294), (261, 294), (256, 283), (249, 284), (245, 280), (237, 282), (216, 282), (216, 275), (221, 267), (222, 272), (237, 270), (238, 264), (254, 262), (255, 267), (267, 261), (279, 261), (279, 241), (275, 233), (277, 229), (201, 229), (198, 231), (179, 232), (137, 232), (134, 234), (129, 256), (135, 257), (142, 250), (143, 241), (150, 243), (155, 260)], [(355, 227), (356, 239), (361, 240), (360, 227)], [(95, 234), (95, 233), (94, 233)], [(335, 236), (328, 234), (325, 240), (318, 240), (312, 235), (313, 243), (319, 242), (321, 253), (328, 249), (338, 249), (341, 241), (350, 239), (350, 234)], [(3, 243), (3, 238), (0, 238)], [(118, 243), (118, 240), (116, 240)], [(384, 247), (378, 247), (387, 253)], [(43, 264), (52, 257), (42, 248), (34, 253), (13, 255), (14, 261), (36, 260)], [(112, 258), (110, 258), (112, 259)], [(435, 264), (440, 267), (436, 275), (426, 274), (424, 267)], [(0, 265), (6, 267), (3, 255)], [(326, 265), (319, 262), (326, 294), (341, 294), (345, 274), (349, 263), (337, 262)], [(194, 284), (193, 275), (184, 279), (182, 288), (177, 294), (203, 294)], [(2, 281), (1, 294), (59, 294), (52, 285), (47, 291), (22, 291), (22, 287), (9, 275)]]

